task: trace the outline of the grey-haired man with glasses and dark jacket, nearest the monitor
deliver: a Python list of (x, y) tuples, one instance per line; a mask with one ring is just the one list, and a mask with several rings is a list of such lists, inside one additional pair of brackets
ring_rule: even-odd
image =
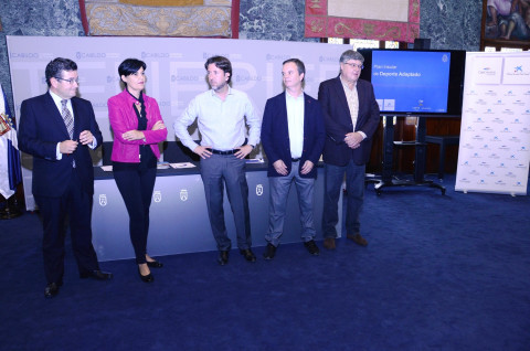
[(360, 233), (359, 214), (364, 196), (365, 163), (370, 160), (372, 136), (379, 126), (379, 106), (372, 85), (359, 79), (364, 57), (353, 50), (340, 56), (338, 77), (320, 83), (318, 100), (326, 123), (324, 162), (324, 247), (333, 249), (337, 237), (338, 201), (346, 173), (348, 192), (347, 237), (367, 246)]

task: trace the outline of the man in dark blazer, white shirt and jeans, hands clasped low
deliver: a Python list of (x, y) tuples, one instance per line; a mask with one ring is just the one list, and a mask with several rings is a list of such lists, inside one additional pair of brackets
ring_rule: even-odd
[(271, 184), (265, 259), (272, 259), (279, 245), (293, 182), (298, 193), (304, 245), (311, 255), (319, 254), (315, 243), (312, 205), (316, 166), (322, 153), (326, 132), (320, 104), (303, 91), (305, 74), (300, 60), (285, 61), (282, 68), (285, 92), (267, 100), (263, 115), (262, 145), (268, 159)]

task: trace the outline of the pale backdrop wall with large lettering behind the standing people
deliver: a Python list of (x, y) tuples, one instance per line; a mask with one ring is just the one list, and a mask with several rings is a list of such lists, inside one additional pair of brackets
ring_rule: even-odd
[[(146, 94), (158, 102), (168, 126), (168, 141), (176, 141), (172, 127), (176, 118), (197, 94), (209, 89), (204, 70), (209, 57), (223, 55), (232, 62), (232, 86), (245, 92), (262, 116), (267, 98), (283, 91), (282, 64), (285, 60), (298, 57), (305, 63), (304, 91), (317, 97), (320, 82), (337, 76), (340, 54), (351, 47), (211, 38), (7, 35), (6, 39), (15, 116), (20, 116), (24, 99), (47, 91), (46, 64), (57, 56), (67, 57), (77, 63), (80, 96), (92, 103), (104, 141), (113, 140), (107, 100), (121, 92), (118, 66), (127, 57), (146, 62)], [(200, 139), (197, 127), (190, 127), (190, 132), (194, 139)], [(262, 148), (256, 149), (259, 152)], [(22, 174), (25, 205), (33, 210), (31, 157), (26, 153), (23, 153)]]

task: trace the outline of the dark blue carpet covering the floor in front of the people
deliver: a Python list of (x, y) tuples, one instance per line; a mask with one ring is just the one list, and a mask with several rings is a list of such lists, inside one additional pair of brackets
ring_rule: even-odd
[(272, 262), (256, 247), (255, 264), (232, 251), (224, 267), (213, 252), (167, 256), (152, 285), (131, 259), (81, 280), (68, 247), (51, 300), (39, 216), (1, 221), (0, 349), (530, 350), (529, 196), (444, 185), (369, 187), (368, 247), (280, 245)]

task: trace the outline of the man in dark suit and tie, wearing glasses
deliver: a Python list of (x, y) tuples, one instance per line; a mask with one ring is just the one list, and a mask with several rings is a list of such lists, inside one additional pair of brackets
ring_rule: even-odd
[(75, 62), (57, 57), (45, 70), (47, 93), (22, 102), (19, 148), (33, 156), (32, 192), (43, 221), (44, 296), (63, 284), (64, 221), (70, 219), (72, 247), (81, 278), (107, 280), (92, 245), (94, 169), (88, 148), (102, 145), (92, 104), (76, 97)]

